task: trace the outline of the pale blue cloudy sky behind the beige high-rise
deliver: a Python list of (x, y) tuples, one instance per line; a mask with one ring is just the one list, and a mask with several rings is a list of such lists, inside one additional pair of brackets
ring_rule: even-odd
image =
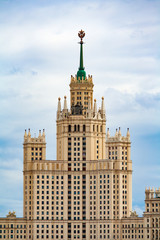
[(160, 186), (159, 10), (159, 0), (0, 1), (0, 217), (23, 216), (24, 130), (44, 128), (47, 159), (56, 159), (57, 99), (69, 99), (81, 29), (107, 128), (130, 128), (132, 205), (142, 216), (145, 188)]

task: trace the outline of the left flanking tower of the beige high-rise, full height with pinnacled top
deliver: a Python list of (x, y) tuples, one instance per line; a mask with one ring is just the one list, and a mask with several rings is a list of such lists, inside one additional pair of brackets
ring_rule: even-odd
[(30, 129), (25, 130), (23, 143), (23, 216), (27, 219), (34, 219), (36, 199), (33, 197), (36, 192), (34, 174), (35, 171), (43, 169), (46, 160), (45, 131), (38, 137), (32, 137)]

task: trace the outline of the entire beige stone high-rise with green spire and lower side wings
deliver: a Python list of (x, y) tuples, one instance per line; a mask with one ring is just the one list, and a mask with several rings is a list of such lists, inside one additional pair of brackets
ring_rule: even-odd
[(46, 160), (45, 131), (24, 134), (23, 218), (0, 218), (0, 239), (160, 239), (160, 189), (149, 189), (143, 217), (132, 212), (130, 133), (106, 134), (83, 65), (70, 82), (70, 107), (58, 99), (57, 160)]

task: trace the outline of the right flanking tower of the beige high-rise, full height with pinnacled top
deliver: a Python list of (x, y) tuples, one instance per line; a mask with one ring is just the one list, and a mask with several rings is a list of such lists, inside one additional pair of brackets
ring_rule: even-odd
[(107, 130), (106, 157), (113, 169), (113, 218), (129, 217), (132, 211), (132, 161), (129, 128), (126, 136), (116, 129), (111, 137)]

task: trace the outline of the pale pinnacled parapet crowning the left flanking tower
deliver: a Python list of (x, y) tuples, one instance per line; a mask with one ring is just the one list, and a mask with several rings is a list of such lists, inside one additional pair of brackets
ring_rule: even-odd
[(25, 143), (46, 143), (45, 140), (45, 130), (43, 129), (43, 132), (41, 134), (41, 130), (39, 130), (39, 136), (36, 137), (32, 137), (31, 133), (30, 133), (30, 128), (28, 129), (28, 134), (27, 134), (27, 130), (25, 130), (24, 133), (24, 144)]

